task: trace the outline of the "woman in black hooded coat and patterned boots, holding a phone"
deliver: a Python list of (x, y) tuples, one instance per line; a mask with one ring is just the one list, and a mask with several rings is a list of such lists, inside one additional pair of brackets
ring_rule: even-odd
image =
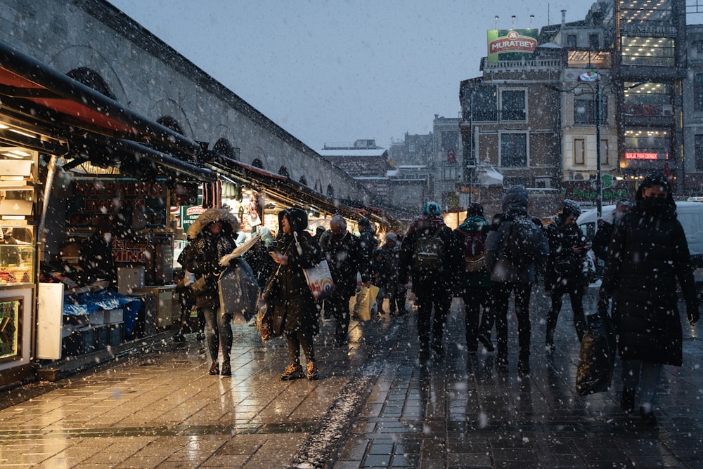
[[(273, 324), (278, 324), (285, 336), (290, 364), (280, 375), (282, 381), (307, 377), (310, 381), (320, 377), (315, 363), (313, 338), (319, 332), (318, 310), (303, 269), (314, 267), (321, 260), (320, 246), (305, 231), (307, 212), (292, 207), (278, 212), (278, 236), (274, 249), (278, 265), (276, 284), (278, 291), (273, 300)], [(306, 369), (300, 364), (300, 351), (305, 355)]]

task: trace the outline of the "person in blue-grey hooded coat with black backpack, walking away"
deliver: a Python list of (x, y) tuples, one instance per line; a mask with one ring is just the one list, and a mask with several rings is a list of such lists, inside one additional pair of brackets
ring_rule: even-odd
[(521, 376), (529, 374), (529, 298), (535, 281), (535, 265), (549, 254), (541, 220), (527, 213), (528, 201), (527, 189), (522, 185), (510, 187), (503, 195), (503, 212), (494, 217), (486, 237), (486, 262), (491, 270), (491, 280), (496, 282), (496, 365), (508, 365), (508, 300), (514, 291), (520, 346), (517, 371)]

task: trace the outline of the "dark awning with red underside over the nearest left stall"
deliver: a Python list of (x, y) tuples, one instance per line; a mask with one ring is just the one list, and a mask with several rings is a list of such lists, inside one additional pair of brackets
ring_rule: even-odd
[[(181, 159), (162, 158), (165, 151), (191, 157), (200, 152), (200, 145), (195, 141), (129, 110), (108, 96), (1, 42), (0, 110), (5, 124), (11, 130), (13, 125), (19, 124), (22, 128), (37, 131), (34, 141), (30, 133), (25, 135), (25, 141), (22, 142), (37, 150), (47, 147), (46, 140), (53, 138), (58, 141), (51, 142), (49, 147), (65, 153), (65, 143), (71, 147), (73, 138), (84, 140), (92, 134), (116, 142), (123, 140), (157, 145), (165, 150), (140, 150), (147, 158), (153, 157), (157, 164), (169, 160), (174, 163), (171, 166), (181, 166)], [(16, 138), (11, 140), (2, 137), (0, 135), (0, 140), (7, 143), (18, 143)], [(60, 144), (61, 140), (64, 145)], [(186, 161), (183, 164), (188, 166), (188, 171), (195, 169), (193, 172), (198, 176), (193, 175), (194, 177), (210, 179), (209, 170), (198, 171), (202, 168)], [(166, 166), (170, 168), (169, 165)]]

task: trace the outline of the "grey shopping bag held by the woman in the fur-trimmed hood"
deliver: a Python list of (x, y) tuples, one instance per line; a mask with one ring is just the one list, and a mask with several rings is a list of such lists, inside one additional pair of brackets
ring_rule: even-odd
[(245, 324), (257, 312), (259, 284), (252, 267), (243, 259), (227, 267), (217, 282), (221, 313), (233, 315), (234, 324)]

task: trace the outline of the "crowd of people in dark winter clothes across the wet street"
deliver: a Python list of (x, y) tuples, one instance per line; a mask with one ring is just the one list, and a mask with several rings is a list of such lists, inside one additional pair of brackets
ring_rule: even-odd
[[(209, 209), (188, 230), (191, 244), (179, 259), (191, 282), (205, 279), (205, 293), (190, 298), (202, 310), (212, 366), (210, 374), (231, 374), (229, 350), (231, 315), (219, 310), (215, 279), (228, 265), (247, 262), (253, 267), (271, 314), (274, 336), (285, 338), (290, 364), (284, 381), (318, 379), (314, 336), (321, 317), (335, 321), (333, 346), (348, 343), (350, 300), (361, 285), (380, 287), (378, 314), (401, 317), (408, 313), (408, 289), (416, 309), (420, 359), (441, 359), (443, 336), (453, 298), (462, 298), (465, 316), (465, 350), (496, 351), (496, 366), (508, 366), (508, 317), (514, 296), (517, 319), (517, 371), (530, 374), (530, 298), (543, 277), (550, 298), (545, 352), (555, 350), (555, 330), (562, 298), (569, 296), (576, 337), (582, 341), (588, 317), (612, 318), (617, 348), (623, 362), (621, 407), (633, 412), (639, 395), (640, 415), (655, 423), (657, 383), (664, 364), (682, 362), (682, 330), (677, 308), (676, 281), (685, 298), (688, 320), (699, 319), (688, 246), (676, 219), (671, 187), (654, 173), (638, 187), (636, 200), (621, 200), (612, 220), (600, 220), (598, 235), (587, 239), (576, 225), (578, 203), (564, 200), (562, 209), (546, 225), (528, 212), (529, 193), (516, 185), (508, 188), (502, 211), (489, 221), (484, 207), (472, 203), (466, 218), (452, 230), (441, 207), (427, 202), (423, 213), (405, 234), (387, 232), (379, 246), (373, 225), (359, 220), (359, 235), (349, 231), (342, 215), (330, 219), (329, 229), (311, 234), (307, 213), (292, 208), (278, 213), (275, 237), (259, 227), (259, 242), (242, 258), (222, 260), (237, 243), (239, 224), (228, 211)], [(96, 236), (98, 236), (96, 234)], [(588, 286), (587, 253), (605, 263), (597, 311), (586, 311), (583, 296)], [(333, 293), (316, 300), (304, 270), (327, 260), (335, 284)], [(612, 301), (611, 301), (612, 300)], [(384, 305), (387, 301), (388, 310)], [(612, 310), (610, 310), (612, 303)], [(188, 306), (186, 305), (186, 308)], [(491, 331), (496, 329), (496, 345)], [(219, 366), (218, 350), (222, 350)], [(301, 352), (305, 359), (302, 366)]]

